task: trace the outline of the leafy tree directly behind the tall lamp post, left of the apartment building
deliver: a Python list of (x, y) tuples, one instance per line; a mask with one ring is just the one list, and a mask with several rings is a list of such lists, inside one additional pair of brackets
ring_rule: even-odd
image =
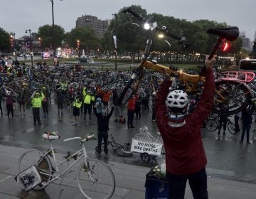
[[(55, 46), (61, 46), (63, 39), (65, 38), (64, 28), (58, 25), (54, 25)], [(44, 25), (38, 28), (38, 38), (41, 38), (42, 48), (53, 48), (53, 26)]]

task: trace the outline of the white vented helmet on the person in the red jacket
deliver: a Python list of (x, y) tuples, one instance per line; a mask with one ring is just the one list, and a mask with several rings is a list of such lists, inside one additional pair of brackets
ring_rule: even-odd
[(183, 90), (173, 90), (166, 97), (166, 106), (183, 109), (188, 105), (188, 95)]

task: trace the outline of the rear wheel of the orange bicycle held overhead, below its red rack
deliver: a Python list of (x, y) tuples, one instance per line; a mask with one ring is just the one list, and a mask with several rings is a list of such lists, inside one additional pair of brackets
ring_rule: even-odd
[[(222, 97), (225, 99), (222, 99)], [(240, 83), (228, 80), (215, 82), (213, 112), (222, 115), (232, 115), (240, 112), (250, 103), (250, 90)], [(223, 109), (223, 105), (226, 107)]]

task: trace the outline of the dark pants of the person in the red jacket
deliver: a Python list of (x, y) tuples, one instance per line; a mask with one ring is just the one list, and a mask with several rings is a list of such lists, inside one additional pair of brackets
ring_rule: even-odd
[(176, 176), (166, 173), (169, 180), (169, 199), (183, 199), (186, 181), (191, 187), (194, 199), (208, 199), (206, 168), (191, 175)]

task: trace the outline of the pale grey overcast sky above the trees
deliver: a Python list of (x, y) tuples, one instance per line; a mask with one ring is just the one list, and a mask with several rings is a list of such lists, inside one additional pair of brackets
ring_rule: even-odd
[[(26, 35), (25, 30), (37, 32), (40, 26), (52, 24), (50, 0), (0, 0), (0, 27)], [(54, 21), (66, 32), (75, 28), (78, 17), (89, 14), (101, 20), (113, 18), (124, 6), (140, 5), (148, 14), (195, 21), (208, 19), (238, 26), (252, 41), (256, 31), (256, 0), (54, 0)]]

